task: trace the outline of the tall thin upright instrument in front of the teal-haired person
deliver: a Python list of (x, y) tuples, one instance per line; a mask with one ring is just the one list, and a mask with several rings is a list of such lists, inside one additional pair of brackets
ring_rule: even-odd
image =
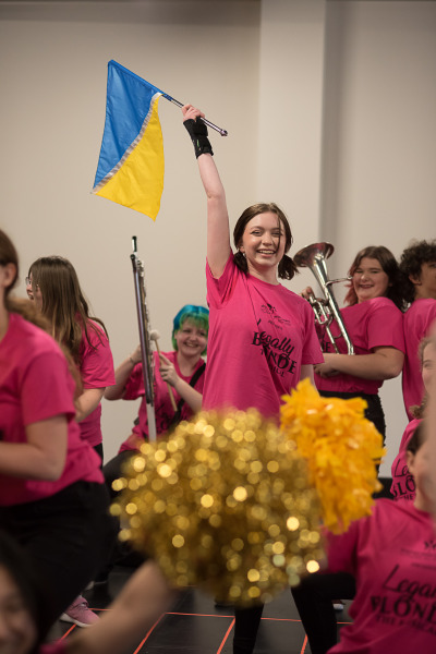
[(145, 401), (147, 404), (148, 440), (156, 440), (156, 416), (154, 393), (154, 359), (149, 338), (149, 317), (146, 303), (144, 264), (136, 254), (136, 237), (132, 237), (133, 254), (130, 255), (133, 266), (133, 280), (135, 284), (137, 323), (140, 328), (141, 354), (143, 362), (143, 377)]

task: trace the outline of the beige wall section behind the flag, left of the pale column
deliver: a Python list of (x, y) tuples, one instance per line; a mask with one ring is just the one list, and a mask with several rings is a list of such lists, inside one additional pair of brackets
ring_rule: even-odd
[[(0, 3), (0, 223), (19, 246), (22, 278), (38, 256), (73, 262), (108, 327), (116, 362), (138, 338), (133, 234), (162, 350), (171, 349), (179, 308), (205, 304), (205, 202), (181, 112), (162, 98), (166, 177), (156, 223), (90, 194), (107, 62), (198, 104), (229, 131), (213, 141), (234, 215), (255, 186), (258, 36), (258, 3)], [(107, 456), (129, 435), (136, 412), (136, 403), (104, 402)]]

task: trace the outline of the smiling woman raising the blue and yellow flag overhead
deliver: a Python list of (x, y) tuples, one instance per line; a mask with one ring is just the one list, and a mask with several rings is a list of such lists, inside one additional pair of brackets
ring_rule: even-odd
[[(279, 419), (282, 396), (323, 361), (312, 308), (279, 279), (292, 279), (294, 262), (286, 254), (292, 234), (274, 203), (246, 208), (230, 245), (226, 193), (207, 138), (204, 114), (186, 105), (184, 126), (194, 145), (207, 198), (207, 300), (210, 334), (204, 409), (257, 409)], [(250, 653), (262, 605), (235, 609), (233, 654)]]

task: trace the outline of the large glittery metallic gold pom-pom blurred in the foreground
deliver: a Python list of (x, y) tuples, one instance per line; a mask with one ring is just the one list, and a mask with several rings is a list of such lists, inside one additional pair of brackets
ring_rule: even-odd
[(323, 558), (319, 506), (295, 445), (257, 411), (202, 412), (132, 457), (112, 512), (175, 585), (268, 602)]

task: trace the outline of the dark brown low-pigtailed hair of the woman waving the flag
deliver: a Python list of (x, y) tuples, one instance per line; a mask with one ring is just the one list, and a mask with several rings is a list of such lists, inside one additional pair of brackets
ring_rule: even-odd
[[(288, 220), (286, 214), (274, 202), (258, 203), (258, 204), (252, 205), (251, 207), (247, 207), (241, 214), (241, 216), (238, 219), (237, 225), (234, 226), (234, 230), (233, 230), (234, 246), (240, 247), (240, 245), (242, 243), (242, 237), (245, 231), (245, 227), (250, 222), (250, 220), (252, 218), (254, 218), (255, 216), (258, 216), (259, 214), (266, 214), (266, 213), (276, 214), (277, 222), (279, 223), (279, 221), (280, 221), (281, 225), (283, 226), (283, 230), (284, 230), (284, 254), (283, 254), (281, 261), (279, 262), (277, 274), (281, 279), (292, 279), (292, 277), (295, 275), (295, 272), (299, 271), (294, 262), (291, 259), (290, 256), (288, 256), (286, 254), (287, 252), (289, 252), (289, 250), (292, 245), (292, 242), (293, 242), (292, 232), (291, 232), (289, 220)], [(279, 241), (280, 241), (280, 239), (279, 239)], [(238, 252), (235, 254), (233, 254), (233, 261), (240, 270), (245, 272), (245, 275), (249, 274), (249, 266), (246, 263), (246, 258), (244, 257), (242, 252), (240, 252), (238, 250)]]

